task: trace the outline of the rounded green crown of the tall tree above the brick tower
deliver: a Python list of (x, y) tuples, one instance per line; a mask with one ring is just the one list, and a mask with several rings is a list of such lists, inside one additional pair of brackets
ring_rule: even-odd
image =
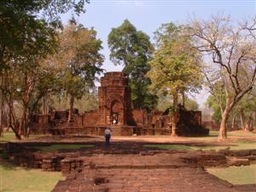
[(108, 35), (108, 46), (111, 51), (110, 60), (115, 65), (125, 66), (124, 72), (131, 77), (141, 76), (136, 67), (143, 69), (141, 73), (148, 71), (146, 64), (153, 47), (148, 35), (137, 31), (129, 20), (124, 20), (121, 26), (112, 29)]

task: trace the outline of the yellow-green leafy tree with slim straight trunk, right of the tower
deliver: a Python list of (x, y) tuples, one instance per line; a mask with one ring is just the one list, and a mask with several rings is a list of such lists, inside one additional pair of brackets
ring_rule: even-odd
[(165, 24), (156, 32), (157, 49), (147, 76), (152, 89), (172, 96), (172, 136), (176, 136), (178, 94), (201, 88), (201, 58), (183, 36), (183, 27)]

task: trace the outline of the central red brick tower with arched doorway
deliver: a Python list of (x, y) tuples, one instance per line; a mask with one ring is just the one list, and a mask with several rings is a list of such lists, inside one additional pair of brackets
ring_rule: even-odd
[(129, 125), (131, 90), (123, 73), (106, 73), (98, 88), (100, 117), (97, 125)]

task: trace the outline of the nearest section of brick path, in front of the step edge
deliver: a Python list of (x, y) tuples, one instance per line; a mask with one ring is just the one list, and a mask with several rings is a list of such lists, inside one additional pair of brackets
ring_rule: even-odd
[(202, 169), (90, 169), (67, 177), (53, 192), (239, 192)]

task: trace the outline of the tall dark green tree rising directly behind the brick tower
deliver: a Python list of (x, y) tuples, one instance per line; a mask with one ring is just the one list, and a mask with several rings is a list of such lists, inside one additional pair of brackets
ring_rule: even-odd
[(149, 93), (150, 79), (145, 78), (153, 51), (148, 35), (137, 31), (129, 20), (124, 20), (121, 26), (113, 28), (109, 33), (108, 47), (111, 51), (110, 60), (114, 65), (124, 66), (123, 72), (131, 79), (133, 108), (153, 109), (156, 96)]

